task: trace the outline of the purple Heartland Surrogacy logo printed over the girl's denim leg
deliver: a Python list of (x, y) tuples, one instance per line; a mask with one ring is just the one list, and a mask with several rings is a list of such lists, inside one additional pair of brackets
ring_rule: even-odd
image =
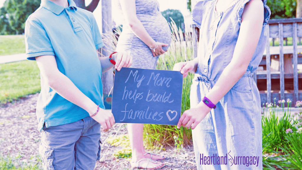
[[(231, 152), (231, 151), (230, 151)], [(204, 154), (200, 154), (200, 165), (259, 165), (259, 156), (234, 156), (234, 158), (230, 155), (230, 152), (225, 156), (217, 156), (217, 154), (213, 154), (213, 156), (204, 156)], [(228, 159), (229, 156), (229, 159)]]

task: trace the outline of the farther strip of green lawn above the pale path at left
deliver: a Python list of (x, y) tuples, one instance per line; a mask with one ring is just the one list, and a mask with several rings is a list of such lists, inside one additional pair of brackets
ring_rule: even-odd
[(0, 56), (25, 53), (24, 35), (0, 35)]

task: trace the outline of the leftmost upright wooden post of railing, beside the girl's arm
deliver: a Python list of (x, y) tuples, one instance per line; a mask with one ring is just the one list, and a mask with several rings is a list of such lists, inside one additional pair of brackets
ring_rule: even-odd
[[(266, 25), (266, 34), (267, 34), (267, 42), (266, 42), (266, 86), (267, 86), (267, 96), (266, 102), (271, 102), (271, 55), (269, 53), (269, 25)], [(274, 40), (273, 40), (274, 42)]]

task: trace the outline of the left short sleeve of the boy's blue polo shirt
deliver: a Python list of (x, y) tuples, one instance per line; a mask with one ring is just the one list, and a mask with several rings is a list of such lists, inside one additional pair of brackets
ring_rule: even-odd
[(47, 32), (37, 21), (28, 18), (25, 23), (25, 47), (28, 60), (41, 55), (55, 55)]

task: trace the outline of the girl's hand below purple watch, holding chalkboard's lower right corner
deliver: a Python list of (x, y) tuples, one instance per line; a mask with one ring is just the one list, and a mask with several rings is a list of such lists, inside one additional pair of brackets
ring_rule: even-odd
[[(199, 107), (198, 107), (199, 106)], [(204, 119), (205, 116), (211, 111), (207, 105), (205, 105), (202, 101), (195, 108), (191, 108), (186, 110), (182, 116), (180, 117), (177, 128), (180, 126), (186, 127), (187, 129), (195, 129), (196, 126)]]

